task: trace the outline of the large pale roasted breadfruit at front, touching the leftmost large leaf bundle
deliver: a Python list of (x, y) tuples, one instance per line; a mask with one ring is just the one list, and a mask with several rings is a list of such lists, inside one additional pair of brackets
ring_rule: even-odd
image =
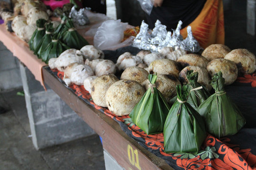
[(108, 89), (106, 104), (113, 114), (117, 116), (128, 115), (144, 93), (145, 89), (137, 81), (119, 80)]

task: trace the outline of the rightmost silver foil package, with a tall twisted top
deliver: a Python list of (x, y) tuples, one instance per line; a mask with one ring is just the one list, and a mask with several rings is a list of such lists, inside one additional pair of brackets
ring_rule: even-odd
[(191, 26), (187, 27), (187, 32), (188, 32), (188, 36), (185, 40), (183, 40), (184, 46), (186, 48), (184, 50), (191, 51), (191, 52), (200, 51), (202, 48), (199, 45), (198, 41), (193, 37)]

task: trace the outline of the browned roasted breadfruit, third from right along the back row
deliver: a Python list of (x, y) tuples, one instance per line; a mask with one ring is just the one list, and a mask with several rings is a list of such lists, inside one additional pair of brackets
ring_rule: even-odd
[(180, 63), (183, 68), (187, 66), (199, 66), (206, 68), (209, 60), (199, 54), (185, 54), (177, 59), (177, 62)]

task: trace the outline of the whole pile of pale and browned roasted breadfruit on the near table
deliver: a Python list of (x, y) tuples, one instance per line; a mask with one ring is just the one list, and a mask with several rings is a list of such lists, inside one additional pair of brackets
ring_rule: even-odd
[[(83, 85), (95, 104), (108, 107), (114, 114), (128, 115), (148, 88), (148, 74), (157, 74), (155, 86), (167, 101), (176, 95), (176, 85), (186, 84), (186, 72), (198, 72), (198, 82), (211, 90), (211, 76), (221, 71), (225, 85), (238, 75), (256, 70), (256, 57), (246, 49), (231, 51), (222, 44), (212, 44), (202, 53), (187, 53), (165, 47), (159, 53), (125, 52), (116, 62), (104, 59), (104, 53), (92, 45), (80, 51), (69, 49), (49, 60), (50, 68), (64, 71), (66, 85)], [(121, 71), (118, 78), (115, 74)]]

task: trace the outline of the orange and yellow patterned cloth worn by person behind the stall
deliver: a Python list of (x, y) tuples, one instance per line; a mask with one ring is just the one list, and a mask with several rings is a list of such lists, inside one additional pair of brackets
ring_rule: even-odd
[[(222, 0), (207, 0), (196, 19), (189, 24), (195, 39), (202, 48), (210, 44), (225, 42), (224, 13)], [(187, 27), (181, 30), (183, 38), (187, 37)]]

